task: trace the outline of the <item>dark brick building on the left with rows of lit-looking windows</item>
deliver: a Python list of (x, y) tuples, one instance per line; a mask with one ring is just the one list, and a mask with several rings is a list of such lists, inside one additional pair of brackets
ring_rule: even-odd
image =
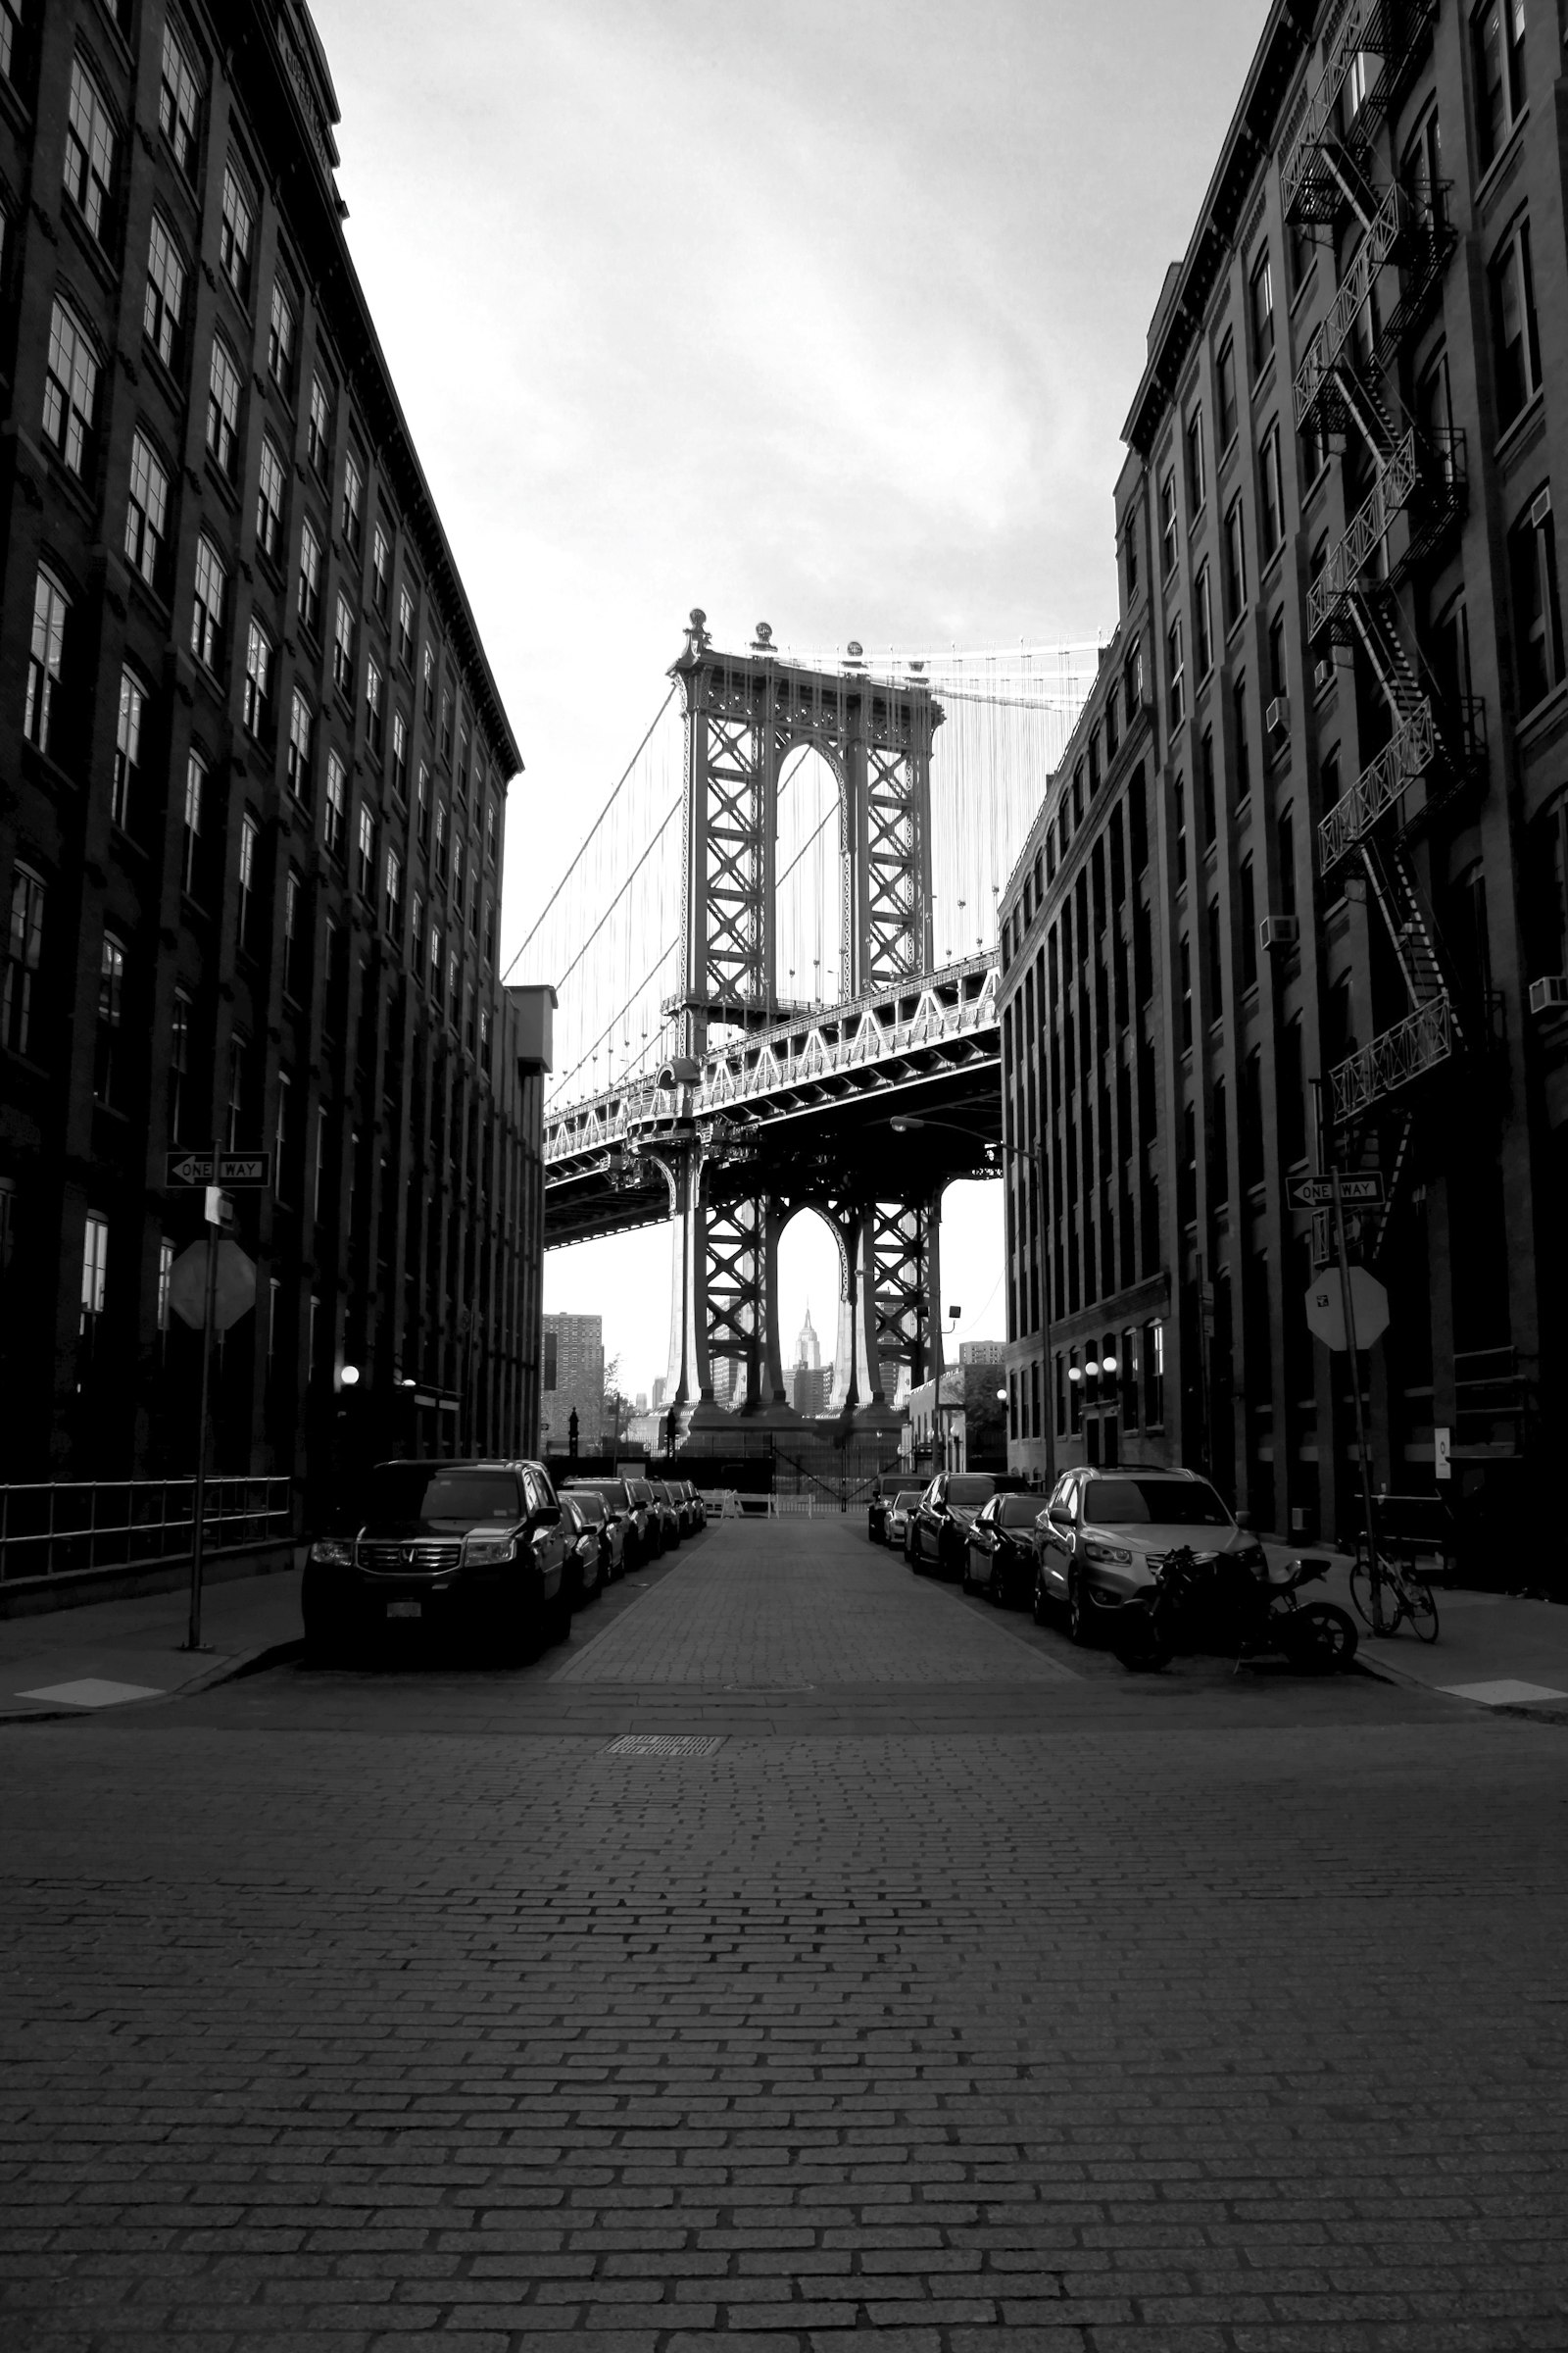
[(520, 758), (336, 118), (301, 0), (0, 7), (9, 1478), (193, 1468), (169, 1285), (202, 1193), (169, 1158), (214, 1141), (273, 1155), (235, 1195), (219, 1468), (327, 1464), (350, 1405), (376, 1442), (423, 1407), (444, 1445), (536, 1438), (548, 1024), (496, 974)]

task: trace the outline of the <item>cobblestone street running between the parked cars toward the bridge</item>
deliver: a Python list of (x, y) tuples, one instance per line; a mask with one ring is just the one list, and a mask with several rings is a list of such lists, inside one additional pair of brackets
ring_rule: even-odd
[(1566, 1755), (853, 1520), (0, 1729), (0, 2344), (1563, 2348)]

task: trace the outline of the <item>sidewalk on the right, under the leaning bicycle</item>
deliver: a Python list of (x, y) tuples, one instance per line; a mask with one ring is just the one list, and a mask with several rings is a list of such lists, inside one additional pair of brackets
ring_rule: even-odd
[[(1265, 1544), (1269, 1560), (1328, 1560), (1328, 1577), (1307, 1586), (1302, 1600), (1331, 1600), (1356, 1617), (1349, 1600), (1349, 1553), (1324, 1544)], [(1568, 1609), (1556, 1602), (1519, 1602), (1507, 1593), (1472, 1593), (1434, 1586), (1439, 1638), (1422, 1642), (1401, 1626), (1378, 1638), (1356, 1617), (1361, 1647), (1356, 1666), (1387, 1682), (1410, 1682), (1446, 1692), (1483, 1708), (1530, 1708), (1568, 1722)]]

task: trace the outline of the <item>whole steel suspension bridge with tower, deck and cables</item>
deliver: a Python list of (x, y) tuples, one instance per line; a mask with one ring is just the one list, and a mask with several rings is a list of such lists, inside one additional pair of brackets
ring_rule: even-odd
[(545, 1247), (670, 1221), (682, 1438), (797, 1419), (778, 1240), (802, 1209), (839, 1254), (832, 1412), (886, 1426), (900, 1374), (943, 1369), (940, 1198), (999, 1174), (997, 896), (1095, 664), (795, 656), (766, 621), (722, 652), (691, 614), (510, 967), (559, 995)]

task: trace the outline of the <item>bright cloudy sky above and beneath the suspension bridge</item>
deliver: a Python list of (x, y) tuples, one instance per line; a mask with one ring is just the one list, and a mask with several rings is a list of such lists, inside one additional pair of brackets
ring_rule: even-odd
[[(736, 647), (1110, 631), (1119, 428), (1265, 14), (315, 0), (348, 245), (524, 758), (503, 960), (691, 605)], [(954, 1337), (1001, 1337), (997, 1186), (950, 1191), (943, 1271)], [(668, 1294), (663, 1228), (545, 1261), (630, 1391)], [(835, 1297), (802, 1217), (785, 1353)]]

